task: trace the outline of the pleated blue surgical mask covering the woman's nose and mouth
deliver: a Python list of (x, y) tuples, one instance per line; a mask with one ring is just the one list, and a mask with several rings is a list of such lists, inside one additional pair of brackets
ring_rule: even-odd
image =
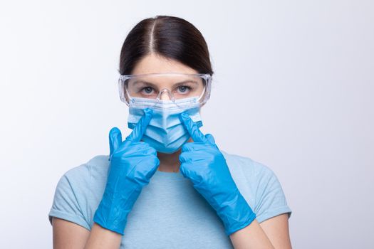
[(198, 97), (182, 100), (150, 100), (142, 97), (133, 97), (130, 100), (128, 127), (133, 129), (144, 115), (143, 110), (153, 110), (152, 120), (145, 129), (142, 141), (150, 144), (157, 152), (177, 152), (189, 139), (189, 133), (180, 121), (180, 113), (187, 112), (197, 127), (202, 127), (199, 115), (200, 103)]

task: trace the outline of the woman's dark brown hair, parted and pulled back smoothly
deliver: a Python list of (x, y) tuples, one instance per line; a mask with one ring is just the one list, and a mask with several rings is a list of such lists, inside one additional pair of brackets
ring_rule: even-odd
[(183, 18), (155, 16), (137, 23), (123, 43), (119, 73), (131, 74), (137, 62), (149, 53), (177, 60), (199, 73), (213, 74), (202, 33)]

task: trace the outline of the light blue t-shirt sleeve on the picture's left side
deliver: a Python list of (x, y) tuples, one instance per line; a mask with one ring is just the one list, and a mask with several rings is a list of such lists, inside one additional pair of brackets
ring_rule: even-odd
[(87, 218), (83, 213), (83, 210), (85, 210), (85, 198), (81, 198), (82, 194), (80, 193), (85, 183), (85, 181), (80, 179), (87, 178), (87, 174), (82, 174), (85, 171), (87, 170), (83, 169), (82, 166), (73, 168), (66, 172), (58, 181), (51, 211), (48, 214), (51, 224), (52, 217), (56, 217), (71, 221), (90, 230)]

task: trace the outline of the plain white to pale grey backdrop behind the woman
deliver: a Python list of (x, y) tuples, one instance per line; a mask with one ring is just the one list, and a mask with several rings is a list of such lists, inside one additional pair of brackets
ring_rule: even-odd
[(204, 132), (278, 176), (294, 248), (373, 248), (373, 1), (8, 1), (0, 5), (0, 248), (51, 248), (58, 179), (124, 134), (125, 36), (186, 18), (214, 69)]

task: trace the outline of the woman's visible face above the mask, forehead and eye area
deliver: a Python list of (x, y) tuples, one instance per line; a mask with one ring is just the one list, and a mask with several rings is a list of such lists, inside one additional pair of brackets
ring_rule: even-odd
[[(198, 72), (177, 60), (151, 53), (137, 63), (131, 74), (142, 75), (149, 73), (196, 74)], [(157, 92), (165, 88), (170, 90), (176, 98), (178, 96), (191, 97), (192, 95), (198, 95), (199, 92), (201, 94), (204, 89), (201, 78), (186, 76), (145, 77), (129, 85), (136, 97), (156, 97)], [(170, 95), (162, 94), (160, 98), (161, 100), (169, 100)]]

